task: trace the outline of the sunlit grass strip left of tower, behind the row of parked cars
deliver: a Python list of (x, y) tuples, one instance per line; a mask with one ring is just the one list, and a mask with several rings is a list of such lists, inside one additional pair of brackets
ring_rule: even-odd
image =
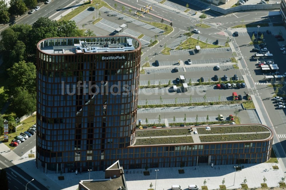
[[(18, 127), (17, 128), (17, 135), (19, 135), (21, 132), (24, 132), (24, 131), (27, 131), (32, 125), (34, 125), (36, 123), (36, 116), (31, 116), (27, 119), (25, 119), (22, 124), (23, 124), (23, 129), (21, 130), (21, 127)], [(34, 134), (35, 135), (35, 134)], [(15, 147), (11, 147), (9, 146), (9, 144), (11, 143), (11, 141), (13, 139), (15, 139), (16, 137), (16, 132), (14, 133), (9, 133), (9, 139), (8, 139), (8, 142), (4, 142), (3, 139), (4, 139), (4, 136), (0, 136), (0, 139), (1, 141), (9, 148), (11, 149), (14, 149)]]

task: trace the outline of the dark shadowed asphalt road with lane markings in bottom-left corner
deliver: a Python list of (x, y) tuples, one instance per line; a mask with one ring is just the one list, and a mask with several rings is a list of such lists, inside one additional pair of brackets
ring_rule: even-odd
[[(0, 168), (5, 169), (7, 172), (9, 190), (25, 189), (26, 184), (33, 179), (25, 171), (14, 165), (11, 161), (0, 155)], [(27, 189), (47, 190), (45, 186), (37, 180), (31, 181), (27, 185)]]

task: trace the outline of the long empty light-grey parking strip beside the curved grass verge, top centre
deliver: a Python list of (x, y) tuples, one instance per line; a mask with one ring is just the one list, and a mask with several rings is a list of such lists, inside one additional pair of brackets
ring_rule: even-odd
[(121, 13), (118, 13), (116, 11), (112, 11), (112, 10), (106, 8), (106, 7), (101, 7), (99, 10), (103, 11), (104, 13), (108, 13), (110, 15), (114, 15), (114, 16), (116, 16), (116, 17), (118, 17), (118, 18), (120, 18), (120, 19), (122, 19), (124, 21), (127, 21), (127, 23), (133, 23), (135, 25), (138, 25), (138, 26), (141, 26), (141, 27), (143, 27), (145, 29), (153, 31), (154, 33), (164, 33), (164, 31), (159, 29), (159, 28), (156, 28), (156, 27), (154, 27), (152, 25), (149, 25), (149, 24), (143, 23), (141, 21), (132, 19), (131, 17), (128, 17), (128, 16), (123, 15)]

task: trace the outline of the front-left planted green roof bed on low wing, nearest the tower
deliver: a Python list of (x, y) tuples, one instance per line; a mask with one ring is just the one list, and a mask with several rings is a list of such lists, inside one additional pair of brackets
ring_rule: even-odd
[(172, 137), (172, 138), (148, 138), (136, 139), (135, 145), (154, 145), (154, 144), (179, 144), (179, 143), (193, 143), (193, 138), (188, 137)]

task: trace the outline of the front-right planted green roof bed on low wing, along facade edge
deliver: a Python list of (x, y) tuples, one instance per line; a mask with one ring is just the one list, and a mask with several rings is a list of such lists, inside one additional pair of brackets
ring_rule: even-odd
[(270, 136), (270, 133), (258, 134), (233, 134), (233, 135), (209, 135), (199, 136), (201, 142), (222, 142), (222, 141), (249, 141), (262, 140)]

